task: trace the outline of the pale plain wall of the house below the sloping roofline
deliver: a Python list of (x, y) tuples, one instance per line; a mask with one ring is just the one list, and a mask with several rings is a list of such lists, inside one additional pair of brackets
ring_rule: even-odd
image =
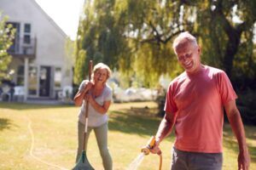
[(20, 37), (23, 37), (24, 24), (31, 24), (31, 37), (37, 38), (36, 58), (32, 59), (31, 64), (38, 65), (38, 68), (41, 65), (61, 67), (61, 88), (72, 85), (72, 73), (70, 77), (65, 77), (67, 71), (64, 70), (67, 35), (38, 3), (34, 0), (0, 0), (0, 10), (3, 15), (9, 15), (9, 21), (20, 23)]

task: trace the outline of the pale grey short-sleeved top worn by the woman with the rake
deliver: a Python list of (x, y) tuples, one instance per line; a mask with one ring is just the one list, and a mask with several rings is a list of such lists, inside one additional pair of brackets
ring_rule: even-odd
[[(79, 91), (84, 89), (85, 82), (88, 82), (88, 80), (84, 80), (81, 82)], [(91, 93), (90, 91), (88, 92)], [(112, 88), (108, 86), (108, 84), (105, 85), (105, 87), (102, 90), (102, 94), (97, 96), (95, 98), (96, 103), (99, 105), (103, 105), (105, 101), (111, 101), (112, 100)], [(86, 101), (83, 100), (83, 105), (81, 106), (81, 109), (79, 111), (79, 122), (85, 124), (85, 109), (86, 108)], [(89, 103), (88, 105), (88, 127), (99, 127), (102, 124), (108, 122), (108, 114), (107, 113), (99, 113), (96, 111)]]

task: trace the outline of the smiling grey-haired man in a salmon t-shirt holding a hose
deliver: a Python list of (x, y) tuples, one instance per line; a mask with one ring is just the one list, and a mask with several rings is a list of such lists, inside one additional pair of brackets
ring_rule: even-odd
[(239, 145), (238, 169), (250, 165), (244, 127), (236, 107), (236, 92), (224, 71), (201, 64), (201, 48), (189, 32), (173, 42), (185, 70), (166, 94), (166, 115), (156, 133), (153, 153), (175, 126), (172, 170), (220, 170), (223, 163), (224, 110)]

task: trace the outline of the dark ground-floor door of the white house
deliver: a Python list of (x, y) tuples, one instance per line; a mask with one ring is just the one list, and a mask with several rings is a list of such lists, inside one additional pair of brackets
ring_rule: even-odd
[(40, 81), (39, 96), (49, 97), (49, 89), (50, 89), (50, 67), (49, 66), (40, 67), (39, 81)]

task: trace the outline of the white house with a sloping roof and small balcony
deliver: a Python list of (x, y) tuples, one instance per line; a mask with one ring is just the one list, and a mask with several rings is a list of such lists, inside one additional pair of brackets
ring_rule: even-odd
[(67, 35), (35, 0), (1, 0), (0, 11), (16, 29), (8, 52), (9, 72), (24, 99), (55, 99), (72, 87), (73, 69), (65, 54)]

